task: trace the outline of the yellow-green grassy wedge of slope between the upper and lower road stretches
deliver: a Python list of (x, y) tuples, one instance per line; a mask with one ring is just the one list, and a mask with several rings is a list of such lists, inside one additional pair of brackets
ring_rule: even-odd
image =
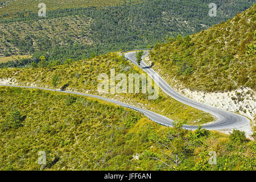
[[(36, 85), (52, 88), (51, 78), (53, 74), (60, 76), (61, 86), (69, 82), (68, 89), (77, 92), (99, 94), (97, 92), (97, 77), (100, 73), (107, 73), (110, 77), (110, 69), (115, 68), (115, 73), (141, 73), (138, 67), (130, 64), (120, 57), (118, 53), (98, 56), (94, 59), (86, 59), (72, 64), (58, 65), (54, 68), (8, 68), (0, 69), (0, 78), (14, 78), (18, 85)], [(128, 81), (128, 80), (127, 80)], [(118, 82), (118, 81), (117, 81)], [(159, 90), (157, 100), (148, 100), (148, 94), (101, 94), (101, 96), (113, 98), (130, 105), (143, 107), (156, 113), (166, 115), (175, 121), (185, 121), (189, 125), (198, 125), (213, 121), (214, 118), (203, 111), (181, 104)]]

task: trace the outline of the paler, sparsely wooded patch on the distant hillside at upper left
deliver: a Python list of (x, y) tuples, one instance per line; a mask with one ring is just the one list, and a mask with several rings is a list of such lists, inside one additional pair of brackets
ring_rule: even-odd
[[(49, 43), (46, 40), (51, 40), (53, 45), (65, 46), (69, 39), (75, 43), (91, 45), (93, 42), (89, 38), (89, 34), (94, 32), (89, 28), (92, 20), (88, 17), (66, 16), (53, 19), (40, 19), (30, 22), (12, 22), (7, 26), (5, 23), (0, 24), (0, 31), (3, 35), (0, 42), (3, 44), (16, 40), (16, 36), (24, 38), (30, 35), (38, 40), (34, 43), (34, 48), (44, 49)], [(5, 47), (3, 46), (2, 47)], [(44, 45), (46, 44), (46, 45)], [(2, 48), (0, 47), (0, 48)], [(18, 52), (19, 47), (11, 47), (13, 51)]]

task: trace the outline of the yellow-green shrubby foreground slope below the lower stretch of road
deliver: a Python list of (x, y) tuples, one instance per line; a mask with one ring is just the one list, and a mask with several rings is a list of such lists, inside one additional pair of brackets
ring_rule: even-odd
[[(165, 169), (155, 160), (135, 160), (133, 155), (146, 150), (160, 154), (160, 148), (148, 137), (152, 132), (166, 133), (167, 127), (133, 110), (75, 97), (76, 101), (67, 105), (69, 96), (64, 93), (0, 87), (0, 126), (13, 107), (18, 107), (26, 117), (18, 129), (0, 130), (0, 169), (40, 170), (39, 151), (46, 151), (47, 170)], [(131, 121), (135, 122), (127, 127), (126, 123)], [(217, 165), (209, 166), (208, 170), (255, 167), (255, 142), (235, 144), (227, 135), (210, 132), (180, 169), (193, 169), (197, 162), (201, 163), (202, 152), (209, 151), (217, 152)]]

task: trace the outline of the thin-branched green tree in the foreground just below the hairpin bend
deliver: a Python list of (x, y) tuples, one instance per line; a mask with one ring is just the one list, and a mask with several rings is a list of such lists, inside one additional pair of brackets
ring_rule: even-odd
[(173, 126), (164, 137), (153, 133), (149, 139), (166, 149), (166, 152), (162, 154), (163, 159), (156, 157), (152, 159), (159, 160), (168, 168), (178, 169), (187, 156), (192, 154), (195, 143), (188, 135), (188, 130), (183, 129), (183, 123), (174, 122)]

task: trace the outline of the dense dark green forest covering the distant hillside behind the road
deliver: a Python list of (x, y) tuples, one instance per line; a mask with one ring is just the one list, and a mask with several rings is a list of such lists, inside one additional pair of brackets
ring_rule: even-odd
[(34, 54), (31, 61), (0, 64), (23, 67), (40, 56), (64, 63), (103, 55), (120, 49), (152, 47), (171, 36), (199, 32), (232, 18), (254, 1), (216, 1), (217, 16), (210, 17), (210, 1), (144, 0), (118, 6), (82, 7), (47, 11), (46, 18), (32, 11), (21, 11), (0, 22), (0, 55)]

